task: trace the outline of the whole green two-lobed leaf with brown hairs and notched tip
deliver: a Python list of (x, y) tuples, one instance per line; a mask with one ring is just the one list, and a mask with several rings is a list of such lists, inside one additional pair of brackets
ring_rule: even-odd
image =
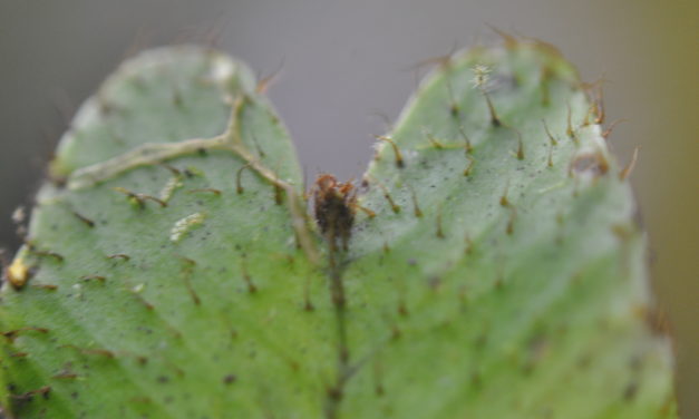
[(445, 59), (357, 201), (315, 185), (322, 228), (254, 84), (173, 47), (84, 105), (6, 272), (6, 415), (676, 417), (630, 188), (557, 52)]

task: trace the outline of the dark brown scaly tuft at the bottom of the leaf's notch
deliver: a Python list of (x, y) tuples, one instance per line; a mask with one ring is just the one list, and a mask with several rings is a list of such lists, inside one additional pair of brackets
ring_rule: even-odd
[(313, 186), (315, 222), (331, 247), (338, 242), (347, 250), (357, 208), (357, 192), (350, 183), (337, 182), (334, 176), (318, 176)]

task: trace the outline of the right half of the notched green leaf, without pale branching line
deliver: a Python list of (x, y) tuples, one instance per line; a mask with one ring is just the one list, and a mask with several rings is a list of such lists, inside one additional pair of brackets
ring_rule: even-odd
[(387, 136), (400, 160), (384, 140), (365, 176), (376, 216), (346, 286), (352, 351), (373, 369), (348, 413), (673, 417), (669, 343), (642, 319), (643, 237), (598, 117), (540, 43), (427, 78)]

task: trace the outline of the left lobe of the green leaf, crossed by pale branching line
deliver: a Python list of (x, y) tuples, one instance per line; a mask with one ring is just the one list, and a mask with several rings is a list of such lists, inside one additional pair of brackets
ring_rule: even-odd
[(54, 164), (67, 185), (42, 187), (17, 256), (35, 273), (2, 291), (16, 417), (317, 416), (334, 328), (304, 309), (328, 299), (284, 193), (233, 149), (182, 143), (235, 120), (239, 148), (299, 191), (287, 133), (253, 89), (241, 64), (169, 48), (124, 65), (79, 111)]

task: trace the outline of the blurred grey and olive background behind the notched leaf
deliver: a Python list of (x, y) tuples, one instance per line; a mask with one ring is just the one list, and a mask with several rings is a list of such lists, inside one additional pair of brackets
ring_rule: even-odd
[(653, 286), (677, 335), (685, 418), (699, 417), (699, 2), (668, 0), (0, 0), (0, 246), (30, 203), (76, 107), (130, 52), (219, 46), (262, 75), (309, 176), (358, 177), (372, 135), (416, 86), (411, 67), (487, 28), (556, 45), (586, 80), (604, 76), (611, 137), (652, 247)]

